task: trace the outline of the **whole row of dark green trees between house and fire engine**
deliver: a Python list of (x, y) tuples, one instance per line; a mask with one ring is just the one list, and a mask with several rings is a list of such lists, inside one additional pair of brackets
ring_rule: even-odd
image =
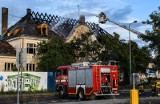
[[(38, 45), (38, 68), (41, 71), (54, 71), (58, 66), (70, 65), (79, 61), (109, 61), (119, 62), (119, 70), (124, 72), (125, 81), (129, 82), (129, 44), (120, 40), (120, 36), (103, 34), (97, 40), (91, 38), (93, 33), (82, 34), (70, 43), (53, 36), (49, 41)], [(139, 48), (136, 42), (132, 44), (132, 72), (145, 71), (150, 62), (150, 52), (147, 47)]]

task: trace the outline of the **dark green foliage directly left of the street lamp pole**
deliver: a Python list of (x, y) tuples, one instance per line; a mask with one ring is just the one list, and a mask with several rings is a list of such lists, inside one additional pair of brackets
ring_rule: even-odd
[[(125, 40), (120, 40), (119, 35), (114, 33), (114, 36), (111, 35), (100, 35), (98, 37), (99, 42), (105, 46), (101, 54), (102, 61), (116, 60), (120, 64), (126, 66), (128, 62), (128, 44), (125, 43)], [(123, 65), (123, 66), (124, 66)]]

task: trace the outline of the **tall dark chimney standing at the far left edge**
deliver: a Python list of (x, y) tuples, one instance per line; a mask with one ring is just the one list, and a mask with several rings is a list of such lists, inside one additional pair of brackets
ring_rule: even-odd
[(8, 8), (2, 7), (2, 36), (8, 29)]

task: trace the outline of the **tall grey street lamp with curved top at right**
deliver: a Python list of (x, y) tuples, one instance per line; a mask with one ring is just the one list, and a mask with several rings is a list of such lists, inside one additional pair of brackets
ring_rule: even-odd
[(133, 21), (129, 24), (129, 77), (130, 77), (130, 85), (131, 85), (131, 35), (130, 35), (130, 27), (133, 23), (137, 23), (137, 21)]

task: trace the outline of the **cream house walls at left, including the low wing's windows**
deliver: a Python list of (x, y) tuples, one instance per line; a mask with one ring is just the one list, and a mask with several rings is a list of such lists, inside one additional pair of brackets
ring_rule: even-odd
[(36, 70), (36, 46), (43, 40), (37, 37), (15, 37), (8, 39), (7, 42), (15, 49), (16, 53), (13, 56), (1, 55), (0, 56), (0, 71), (12, 71), (13, 65), (19, 67), (19, 52), (23, 52), (23, 70), (24, 71), (35, 71)]

